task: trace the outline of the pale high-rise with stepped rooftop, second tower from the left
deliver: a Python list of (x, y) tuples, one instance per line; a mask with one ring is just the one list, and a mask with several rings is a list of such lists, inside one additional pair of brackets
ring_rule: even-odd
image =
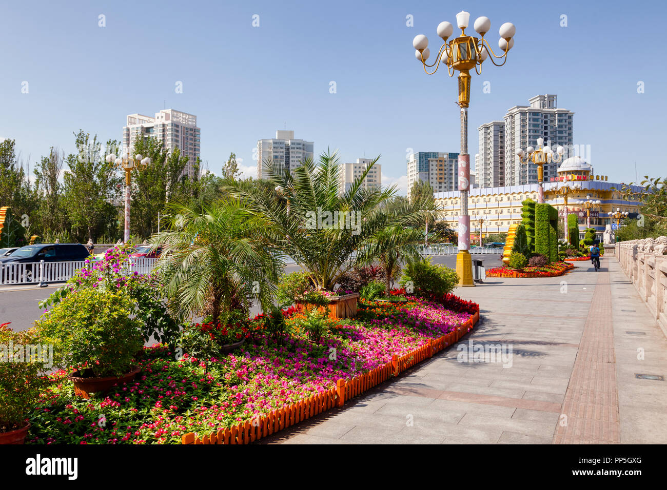
[(257, 179), (266, 177), (266, 162), (269, 159), (293, 171), (313, 155), (312, 141), (294, 139), (294, 131), (275, 131), (275, 138), (257, 140)]

